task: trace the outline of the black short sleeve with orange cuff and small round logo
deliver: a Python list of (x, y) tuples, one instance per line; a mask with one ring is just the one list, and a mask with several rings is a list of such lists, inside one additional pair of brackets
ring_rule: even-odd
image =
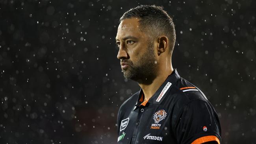
[(217, 113), (211, 104), (194, 100), (183, 107), (174, 125), (178, 144), (201, 144), (221, 141), (221, 126)]

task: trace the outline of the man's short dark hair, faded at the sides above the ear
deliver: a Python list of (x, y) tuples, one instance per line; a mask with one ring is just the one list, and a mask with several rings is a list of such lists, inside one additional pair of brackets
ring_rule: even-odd
[(119, 22), (128, 18), (139, 18), (139, 26), (149, 33), (151, 39), (166, 35), (169, 39), (170, 50), (173, 51), (176, 34), (173, 19), (160, 6), (141, 5), (126, 11)]

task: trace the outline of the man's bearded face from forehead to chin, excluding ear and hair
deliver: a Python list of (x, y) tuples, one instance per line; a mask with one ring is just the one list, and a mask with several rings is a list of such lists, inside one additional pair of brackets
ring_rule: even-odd
[(140, 82), (156, 74), (154, 41), (140, 30), (139, 19), (124, 19), (116, 36), (119, 47), (117, 58), (121, 60), (124, 78)]

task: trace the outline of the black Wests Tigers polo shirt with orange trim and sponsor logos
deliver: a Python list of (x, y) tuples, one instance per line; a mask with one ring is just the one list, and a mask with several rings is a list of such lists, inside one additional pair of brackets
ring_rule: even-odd
[(221, 141), (218, 115), (197, 87), (174, 70), (146, 102), (143, 90), (120, 107), (118, 144), (201, 144)]

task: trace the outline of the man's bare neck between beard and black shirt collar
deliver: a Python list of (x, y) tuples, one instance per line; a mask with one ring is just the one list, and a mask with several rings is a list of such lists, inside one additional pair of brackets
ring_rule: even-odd
[(164, 70), (158, 70), (158, 72), (160, 73), (154, 76), (154, 79), (147, 79), (145, 81), (138, 82), (145, 96), (144, 101), (147, 101), (154, 95), (154, 93), (156, 93), (167, 77), (173, 72), (173, 67), (171, 66)]

